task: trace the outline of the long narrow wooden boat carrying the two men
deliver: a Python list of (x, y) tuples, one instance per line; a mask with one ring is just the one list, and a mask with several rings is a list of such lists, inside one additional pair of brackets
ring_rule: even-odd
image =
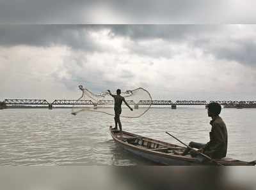
[[(110, 134), (115, 143), (135, 154), (157, 164), (163, 165), (212, 165), (213, 162), (204, 162), (196, 157), (179, 155), (185, 147), (172, 143), (161, 142), (145, 136), (135, 135), (126, 131), (118, 131), (109, 127)], [(256, 161), (246, 162), (238, 159), (225, 157), (223, 159), (214, 159), (214, 161), (225, 166), (254, 166)], [(215, 163), (216, 164), (216, 163)]]

